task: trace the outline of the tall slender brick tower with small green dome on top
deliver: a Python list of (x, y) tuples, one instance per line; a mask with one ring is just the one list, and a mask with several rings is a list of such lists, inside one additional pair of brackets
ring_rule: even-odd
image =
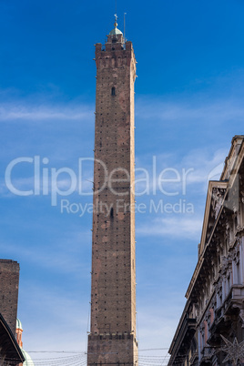
[(96, 45), (91, 325), (87, 365), (137, 365), (134, 83), (131, 42)]

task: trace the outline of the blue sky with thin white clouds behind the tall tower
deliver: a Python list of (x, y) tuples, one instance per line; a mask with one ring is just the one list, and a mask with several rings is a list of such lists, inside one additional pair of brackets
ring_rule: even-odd
[[(243, 134), (243, 11), (240, 0), (117, 1), (118, 27), (126, 12), (137, 57), (136, 167), (152, 174), (156, 157), (157, 175), (192, 169), (186, 192), (172, 183), (166, 190), (176, 196), (159, 188), (153, 195), (150, 186), (137, 197), (147, 208), (150, 199), (194, 208), (137, 213), (141, 350), (170, 345), (197, 263), (208, 177), (219, 177), (231, 138)], [(5, 169), (15, 158), (39, 156), (49, 159), (42, 164), (49, 172), (77, 173), (78, 158), (93, 156), (94, 44), (104, 43), (114, 13), (108, 0), (0, 1), (0, 257), (21, 266), (19, 317), (29, 351), (86, 350), (92, 218), (62, 213), (61, 198), (53, 207), (50, 194), (14, 195)], [(91, 192), (86, 179), (90, 165)], [(13, 181), (31, 189), (33, 166), (17, 166)], [(66, 175), (59, 184), (68, 186)], [(92, 202), (77, 192), (68, 199)]]

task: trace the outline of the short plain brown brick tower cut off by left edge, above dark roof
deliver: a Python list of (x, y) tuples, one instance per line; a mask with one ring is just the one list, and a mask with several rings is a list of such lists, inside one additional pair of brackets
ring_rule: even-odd
[(0, 259), (0, 312), (15, 334), (18, 304), (19, 264)]

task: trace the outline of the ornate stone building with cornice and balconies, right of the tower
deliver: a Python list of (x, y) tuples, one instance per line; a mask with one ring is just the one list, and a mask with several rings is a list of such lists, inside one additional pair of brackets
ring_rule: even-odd
[(241, 364), (244, 356), (244, 346), (239, 345), (244, 341), (244, 136), (233, 137), (219, 181), (209, 181), (198, 264), (186, 297), (186, 307), (169, 349), (168, 364)]

